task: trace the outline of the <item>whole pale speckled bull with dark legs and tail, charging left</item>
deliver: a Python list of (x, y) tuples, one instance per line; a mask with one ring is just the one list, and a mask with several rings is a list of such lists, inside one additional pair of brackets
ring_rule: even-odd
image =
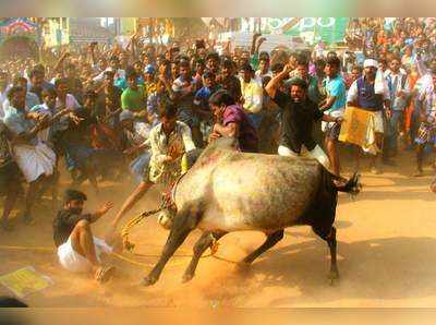
[(202, 254), (226, 233), (257, 230), (265, 242), (239, 265), (245, 267), (283, 238), (287, 227), (306, 225), (325, 240), (331, 262), (329, 279), (339, 278), (336, 215), (338, 191), (356, 194), (359, 177), (338, 185), (317, 160), (241, 153), (237, 141), (209, 144), (173, 189), (177, 206), (170, 233), (158, 263), (142, 285), (154, 285), (189, 233), (203, 233), (193, 248), (182, 281), (194, 277)]

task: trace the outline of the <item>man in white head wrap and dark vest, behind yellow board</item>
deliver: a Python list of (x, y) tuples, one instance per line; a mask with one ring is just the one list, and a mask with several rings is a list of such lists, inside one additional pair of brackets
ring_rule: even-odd
[[(374, 112), (375, 116), (375, 136), (376, 144), (382, 149), (384, 139), (384, 113), (390, 118), (390, 95), (386, 80), (382, 74), (377, 76), (378, 63), (374, 59), (366, 59), (363, 63), (364, 75), (359, 77), (351, 85), (347, 101), (350, 106), (360, 107), (364, 110)], [(376, 165), (377, 155), (372, 157), (371, 171), (380, 173)], [(388, 162), (384, 157), (384, 162)]]

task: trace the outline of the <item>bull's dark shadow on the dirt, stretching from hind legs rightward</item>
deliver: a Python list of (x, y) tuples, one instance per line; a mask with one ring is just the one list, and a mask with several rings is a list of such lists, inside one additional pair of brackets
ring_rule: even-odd
[[(330, 303), (341, 299), (425, 298), (436, 294), (434, 252), (436, 239), (427, 237), (338, 242), (341, 279), (330, 287), (328, 248), (314, 238), (265, 253), (249, 273), (238, 278), (250, 281), (253, 294), (268, 286), (290, 287), (301, 292), (300, 297), (272, 301), (270, 306)], [(262, 280), (255, 279), (259, 274)]]

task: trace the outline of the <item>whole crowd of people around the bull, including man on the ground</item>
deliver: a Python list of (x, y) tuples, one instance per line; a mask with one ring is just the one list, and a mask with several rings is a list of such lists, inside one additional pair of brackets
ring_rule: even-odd
[[(59, 256), (78, 252), (70, 262), (85, 257), (105, 278), (111, 268), (99, 266), (89, 224), (112, 204), (82, 215), (86, 195), (76, 190), (84, 181), (97, 194), (101, 180), (123, 182), (129, 174), (136, 183), (111, 222), (116, 228), (150, 186), (171, 184), (189, 168), (190, 153), (221, 136), (238, 139), (243, 152), (306, 155), (340, 176), (347, 106), (373, 112), (372, 172), (395, 165), (401, 149), (414, 149), (414, 176), (422, 176), (436, 140), (435, 26), (433, 19), (352, 19), (347, 46), (336, 51), (319, 41), (311, 50), (266, 52), (261, 34), (251, 49), (227, 43), (219, 53), (216, 39), (157, 46), (133, 36), (126, 48), (93, 43), (44, 64), (4, 61), (2, 229), (12, 230), (9, 217), (21, 193), (25, 222), (35, 222), (33, 207), (47, 192), (57, 208), (59, 177), (68, 172), (75, 190), (53, 224)], [(353, 149), (359, 164), (362, 149)]]

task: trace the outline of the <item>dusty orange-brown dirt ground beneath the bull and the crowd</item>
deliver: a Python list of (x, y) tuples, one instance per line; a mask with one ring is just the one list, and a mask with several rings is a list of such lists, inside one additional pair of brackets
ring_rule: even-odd
[[(347, 158), (344, 158), (347, 160)], [(113, 260), (117, 279), (98, 286), (86, 276), (69, 274), (57, 264), (55, 254), (0, 250), (0, 274), (33, 265), (55, 284), (28, 296), (33, 306), (435, 306), (436, 305), (436, 196), (428, 191), (432, 180), (414, 179), (413, 157), (403, 153), (398, 167), (382, 176), (364, 169), (363, 192), (353, 201), (340, 195), (338, 228), (340, 282), (330, 287), (327, 245), (307, 227), (290, 228), (286, 238), (241, 274), (231, 263), (203, 258), (196, 277), (182, 285), (189, 260), (171, 260), (160, 280), (150, 288), (138, 285), (149, 266)], [(344, 168), (350, 174), (350, 166)], [(104, 197), (121, 204), (129, 189), (107, 184)], [(135, 212), (157, 205), (156, 193)], [(101, 201), (100, 201), (101, 202)], [(90, 197), (89, 207), (97, 200)], [(51, 246), (52, 212), (39, 208), (36, 226), (15, 222), (15, 231), (0, 233), (0, 245)], [(132, 213), (131, 216), (134, 214)], [(96, 225), (102, 234), (108, 215)], [(132, 231), (136, 252), (146, 257), (125, 255), (152, 265), (157, 261), (167, 231), (155, 218)], [(198, 232), (193, 232), (179, 254), (189, 254)], [(263, 241), (262, 233), (231, 233), (220, 241), (218, 255), (240, 260)], [(0, 287), (0, 294), (9, 294)]]

